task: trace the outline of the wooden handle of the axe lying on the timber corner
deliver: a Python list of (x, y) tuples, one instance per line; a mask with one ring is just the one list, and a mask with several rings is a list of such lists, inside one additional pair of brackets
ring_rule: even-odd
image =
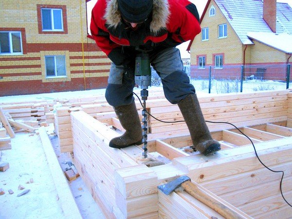
[(250, 216), (234, 207), (232, 204), (219, 198), (198, 183), (186, 181), (182, 183), (183, 189), (197, 200), (203, 202), (224, 218), (228, 219), (252, 219)]

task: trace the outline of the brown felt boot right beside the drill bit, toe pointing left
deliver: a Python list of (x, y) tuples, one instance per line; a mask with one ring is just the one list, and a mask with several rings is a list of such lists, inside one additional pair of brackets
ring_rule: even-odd
[(142, 127), (135, 103), (113, 108), (126, 132), (110, 140), (110, 147), (124, 148), (142, 144)]

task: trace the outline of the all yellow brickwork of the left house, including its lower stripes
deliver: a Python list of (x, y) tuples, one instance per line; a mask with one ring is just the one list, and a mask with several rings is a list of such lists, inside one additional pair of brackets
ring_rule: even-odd
[[(80, 7), (81, 3), (81, 7)], [(68, 34), (39, 34), (37, 22), (37, 5), (65, 5), (67, 15)], [(64, 13), (64, 11), (63, 11)], [(67, 44), (67, 49), (63, 51), (52, 51), (49, 49), (40, 49), (40, 52), (29, 52), (23, 55), (0, 55), (0, 66), (8, 66), (7, 69), (0, 69), (2, 78), (1, 82), (14, 82), (26, 80), (41, 80), (45, 82), (69, 82), (73, 78), (92, 78), (109, 76), (110, 59), (109, 58), (89, 58), (88, 56), (105, 56), (101, 51), (82, 53), (81, 49), (78, 52), (68, 51), (68, 45), (72, 43), (76, 47), (78, 44), (81, 48), (81, 43), (84, 43), (86, 50), (87, 44), (94, 44), (92, 39), (87, 37), (87, 21), (86, 21), (86, 1), (85, 0), (1, 0), (0, 3), (0, 28), (25, 28), (26, 44), (32, 46), (47, 43), (57, 43), (60, 48), (62, 44)], [(83, 36), (83, 37), (81, 37)], [(23, 42), (22, 42), (23, 43)], [(25, 45), (23, 45), (24, 47)], [(70, 47), (70, 45), (69, 45)], [(46, 78), (44, 55), (65, 55), (66, 56), (66, 77)], [(82, 56), (84, 55), (84, 59)], [(78, 56), (78, 58), (70, 58)], [(26, 58), (38, 58), (37, 60), (29, 60)], [(9, 60), (10, 58), (20, 58), (20, 60)], [(2, 60), (1, 60), (2, 59)], [(5, 60), (4, 60), (5, 59)], [(7, 60), (8, 59), (8, 60)], [(83, 67), (83, 62), (85, 66)], [(92, 65), (96, 63), (96, 65)], [(104, 63), (104, 64), (102, 64)], [(78, 66), (75, 66), (78, 64)], [(98, 65), (101, 64), (101, 65)], [(11, 68), (11, 66), (24, 66), (23, 68)], [(29, 66), (35, 65), (30, 68)], [(36, 67), (39, 65), (40, 67)], [(73, 66), (71, 66), (73, 65)], [(83, 73), (85, 70), (85, 73)], [(77, 71), (80, 73), (71, 73)], [(88, 72), (93, 71), (93, 73)], [(94, 71), (98, 71), (94, 73)], [(41, 75), (21, 75), (22, 73), (40, 73)], [(7, 76), (5, 76), (5, 74)], [(16, 76), (13, 76), (16, 74)], [(4, 76), (3, 76), (4, 75)]]

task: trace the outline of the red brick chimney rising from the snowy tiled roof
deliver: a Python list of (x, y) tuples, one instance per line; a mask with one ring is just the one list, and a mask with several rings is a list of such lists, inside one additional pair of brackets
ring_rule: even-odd
[(276, 0), (264, 0), (263, 18), (274, 33), (276, 33), (276, 12)]

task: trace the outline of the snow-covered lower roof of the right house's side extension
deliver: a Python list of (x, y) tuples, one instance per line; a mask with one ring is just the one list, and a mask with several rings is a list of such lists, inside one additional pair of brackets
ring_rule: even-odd
[(284, 53), (292, 54), (292, 35), (282, 33), (249, 32), (247, 36)]

